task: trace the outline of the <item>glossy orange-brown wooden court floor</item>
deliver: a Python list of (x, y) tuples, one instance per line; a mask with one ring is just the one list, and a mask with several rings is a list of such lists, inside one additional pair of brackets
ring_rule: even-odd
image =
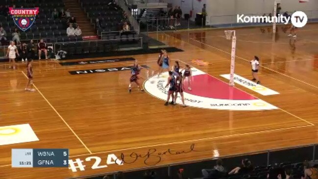
[[(25, 64), (19, 63), (15, 71), (0, 64), (0, 127), (29, 124), (39, 138), (0, 146), (0, 179), (75, 178), (317, 143), (317, 29), (317, 24), (307, 25), (294, 41), (279, 28), (275, 43), (267, 28), (264, 33), (260, 27), (236, 29), (235, 73), (250, 79), (249, 60), (258, 55), (262, 85), (279, 94), (263, 96), (238, 84), (235, 88), (277, 106), (273, 110), (164, 106), (163, 100), (147, 92), (133, 89), (128, 94), (130, 71), (69, 74), (130, 66), (131, 61), (75, 66), (34, 61), (37, 92), (33, 93), (24, 91)], [(229, 73), (231, 43), (223, 34), (223, 30), (198, 30), (149, 35), (184, 50), (170, 53), (181, 66), (187, 63), (227, 83), (220, 75)], [(126, 57), (138, 59), (151, 71), (157, 69), (157, 56)], [(195, 59), (209, 65), (194, 64)], [(79, 60), (93, 59), (68, 61)], [(76, 171), (11, 168), (11, 149), (18, 148), (68, 148), (70, 159), (82, 160), (85, 166)], [(114, 156), (124, 163), (116, 164)]]

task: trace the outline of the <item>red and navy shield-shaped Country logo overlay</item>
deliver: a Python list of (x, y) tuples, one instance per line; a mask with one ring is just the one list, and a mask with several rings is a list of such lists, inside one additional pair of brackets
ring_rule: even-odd
[(39, 13), (39, 8), (13, 8), (9, 7), (9, 12), (12, 15), (14, 23), (22, 30), (25, 31), (30, 28), (34, 21), (35, 16)]

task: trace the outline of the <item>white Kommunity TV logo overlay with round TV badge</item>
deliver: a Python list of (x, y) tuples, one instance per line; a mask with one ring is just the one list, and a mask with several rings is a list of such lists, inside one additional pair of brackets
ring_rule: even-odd
[(307, 24), (307, 15), (302, 11), (296, 11), (292, 16), (245, 16), (244, 14), (237, 15), (237, 23), (283, 23), (285, 25), (292, 22), (295, 27), (303, 27)]

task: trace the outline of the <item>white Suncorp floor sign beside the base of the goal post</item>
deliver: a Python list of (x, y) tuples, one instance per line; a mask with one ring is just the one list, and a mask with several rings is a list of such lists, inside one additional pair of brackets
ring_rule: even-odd
[[(226, 79), (230, 79), (230, 75), (229, 74), (226, 74), (226, 75), (220, 75), (221, 77), (225, 77)], [(274, 91), (274, 90), (271, 90), (265, 86), (262, 86), (260, 84), (257, 84), (251, 80), (248, 80), (244, 77), (241, 77), (239, 75), (236, 75), (234, 74), (234, 82), (235, 83), (238, 83), (252, 91), (255, 91), (261, 95), (264, 95), (264, 96), (269, 96), (269, 95), (278, 95), (279, 93)]]

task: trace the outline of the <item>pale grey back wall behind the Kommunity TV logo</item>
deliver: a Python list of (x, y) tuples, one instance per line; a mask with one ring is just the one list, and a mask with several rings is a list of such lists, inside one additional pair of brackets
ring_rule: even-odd
[[(168, 0), (174, 6), (181, 6), (183, 14), (190, 13), (193, 7), (193, 18), (197, 12), (201, 12), (203, 4), (207, 6), (207, 22), (212, 19), (214, 22), (231, 23), (236, 22), (236, 14), (259, 14), (272, 13), (274, 0)], [(318, 18), (318, 0), (299, 3), (299, 0), (281, 0), (281, 13), (285, 11), (317, 11), (315, 13), (305, 12), (308, 18)], [(232, 15), (232, 16), (230, 16)], [(235, 15), (235, 18), (234, 18)], [(223, 17), (216, 17), (223, 16)], [(215, 24), (215, 23), (214, 23)]]

